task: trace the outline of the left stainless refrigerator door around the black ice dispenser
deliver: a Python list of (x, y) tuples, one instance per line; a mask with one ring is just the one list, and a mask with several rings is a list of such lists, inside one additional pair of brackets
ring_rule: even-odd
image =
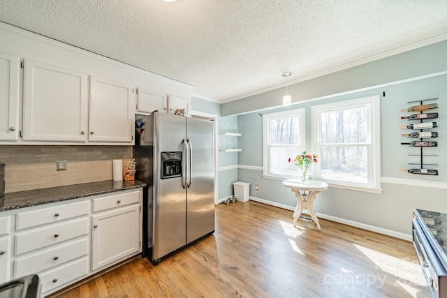
[[(185, 117), (154, 113), (152, 260), (158, 260), (186, 245), (186, 191), (182, 187), (183, 177), (161, 179), (161, 152), (182, 151), (185, 137)], [(182, 161), (184, 167), (185, 158)]]

